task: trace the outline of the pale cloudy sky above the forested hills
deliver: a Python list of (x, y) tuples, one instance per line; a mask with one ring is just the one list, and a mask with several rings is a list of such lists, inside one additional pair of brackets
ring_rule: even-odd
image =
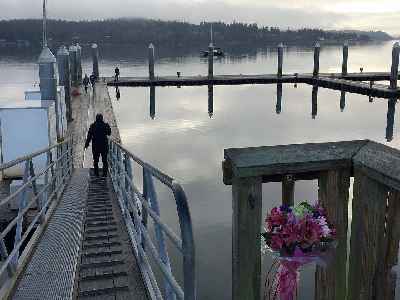
[[(272, 2), (272, 3), (269, 3)], [(400, 0), (47, 0), (49, 18), (119, 17), (257, 23), (259, 27), (383, 30), (400, 34)], [(40, 18), (42, 0), (0, 0), (0, 20)]]

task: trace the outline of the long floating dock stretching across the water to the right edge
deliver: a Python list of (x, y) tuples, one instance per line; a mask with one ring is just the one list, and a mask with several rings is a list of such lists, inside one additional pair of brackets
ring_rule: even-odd
[[(398, 89), (389, 89), (383, 84), (369, 87), (362, 81), (390, 80), (390, 72), (365, 72), (350, 73), (346, 75), (324, 73), (319, 78), (313, 78), (313, 74), (298, 74), (277, 76), (275, 74), (257, 75), (216, 75), (207, 76), (159, 76), (156, 78), (120, 77), (118, 81), (114, 77), (104, 77), (108, 85), (118, 86), (198, 86), (198, 85), (229, 85), (229, 84), (279, 84), (279, 83), (306, 83), (318, 85), (335, 90), (346, 90), (367, 96), (382, 98), (400, 98)], [(399, 76), (400, 79), (400, 76)], [(334, 81), (334, 80), (343, 80)]]

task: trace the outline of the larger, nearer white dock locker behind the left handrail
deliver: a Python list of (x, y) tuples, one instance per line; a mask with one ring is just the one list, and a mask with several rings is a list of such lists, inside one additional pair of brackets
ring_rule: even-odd
[[(56, 108), (53, 100), (10, 101), (0, 106), (2, 162), (42, 150), (57, 143)], [(52, 150), (53, 160), (57, 149)], [(33, 158), (35, 173), (46, 167), (47, 154)], [(2, 171), (3, 178), (24, 176), (25, 162)], [(42, 176), (44, 178), (44, 174)]]

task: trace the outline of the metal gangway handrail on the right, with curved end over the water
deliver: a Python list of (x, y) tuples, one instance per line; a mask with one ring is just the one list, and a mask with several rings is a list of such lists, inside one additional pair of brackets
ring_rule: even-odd
[[(150, 254), (152, 254), (154, 262), (157, 264), (158, 268), (160, 268), (160, 271), (164, 276), (167, 300), (175, 300), (177, 298), (179, 300), (195, 300), (194, 238), (188, 201), (182, 184), (151, 164), (138, 158), (118, 142), (108, 138), (108, 143), (110, 146), (108, 154), (110, 177), (112, 178), (114, 190), (128, 227), (132, 246), (136, 257), (138, 258), (146, 288), (148, 289), (149, 298), (151, 300), (163, 299), (160, 289), (158, 288), (158, 283), (156, 282), (145, 254), (146, 244), (149, 248)], [(124, 153), (124, 156), (122, 156), (122, 152)], [(131, 160), (138, 163), (143, 168), (142, 193), (134, 185)], [(176, 235), (176, 233), (160, 218), (153, 177), (168, 186), (174, 194), (180, 223), (181, 238), (179, 238), (178, 235)], [(141, 217), (138, 208), (138, 201), (142, 204)], [(130, 211), (133, 212), (133, 219), (129, 214)], [(148, 215), (150, 215), (154, 220), (154, 229), (156, 231), (159, 253), (147, 232)], [(182, 252), (184, 267), (183, 289), (172, 275), (164, 233), (168, 238), (170, 238), (178, 250)]]

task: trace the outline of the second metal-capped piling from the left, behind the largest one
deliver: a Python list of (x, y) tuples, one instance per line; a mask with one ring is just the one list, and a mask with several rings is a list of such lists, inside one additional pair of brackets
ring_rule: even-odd
[(64, 46), (61, 45), (60, 49), (57, 52), (57, 60), (58, 60), (58, 80), (60, 82), (60, 86), (64, 86), (65, 91), (65, 109), (67, 115), (67, 121), (74, 120), (72, 118), (71, 111), (71, 71), (70, 71), (70, 52)]

